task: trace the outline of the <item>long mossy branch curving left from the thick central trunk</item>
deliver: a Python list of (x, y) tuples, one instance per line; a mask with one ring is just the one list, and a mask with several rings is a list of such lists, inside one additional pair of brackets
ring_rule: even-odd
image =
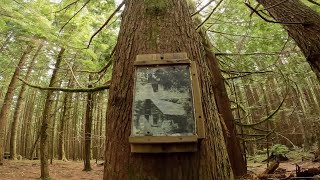
[(103, 91), (106, 89), (109, 89), (110, 83), (109, 81), (106, 83), (106, 85), (97, 86), (93, 88), (61, 88), (61, 87), (43, 87), (43, 86), (37, 86), (34, 84), (31, 84), (27, 82), (26, 80), (22, 78), (18, 78), (20, 81), (22, 81), (27, 86), (30, 86), (32, 88), (36, 88), (39, 90), (45, 90), (45, 91), (62, 91), (62, 92), (97, 92), (97, 91)]

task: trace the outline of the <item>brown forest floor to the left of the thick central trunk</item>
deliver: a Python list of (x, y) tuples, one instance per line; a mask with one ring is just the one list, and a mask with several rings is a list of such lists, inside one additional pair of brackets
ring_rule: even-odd
[[(49, 165), (50, 176), (55, 180), (96, 180), (103, 177), (103, 166), (99, 166), (95, 161), (91, 162), (92, 171), (85, 172), (82, 161), (59, 161), (54, 160)], [(39, 179), (40, 162), (39, 160), (5, 160), (0, 167), (0, 180), (27, 180)]]

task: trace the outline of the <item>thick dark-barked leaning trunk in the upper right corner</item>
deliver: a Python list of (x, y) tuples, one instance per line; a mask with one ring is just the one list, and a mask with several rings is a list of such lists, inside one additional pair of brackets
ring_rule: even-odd
[(320, 15), (300, 0), (287, 0), (281, 3), (279, 0), (257, 1), (276, 21), (283, 24), (320, 80)]

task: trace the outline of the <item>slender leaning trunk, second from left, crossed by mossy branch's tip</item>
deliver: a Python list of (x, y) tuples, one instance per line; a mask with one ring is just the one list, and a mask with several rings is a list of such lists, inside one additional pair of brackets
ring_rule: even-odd
[[(25, 80), (28, 80), (28, 78), (31, 74), (31, 71), (33, 69), (35, 60), (36, 60), (37, 56), (39, 55), (39, 52), (42, 47), (43, 47), (43, 44), (41, 43), (39, 45), (35, 55), (33, 56), (30, 64), (29, 64), (27, 73), (25, 75)], [(10, 155), (11, 155), (12, 159), (17, 158), (17, 131), (18, 131), (21, 108), (24, 103), (24, 96), (25, 96), (26, 89), (27, 89), (27, 86), (25, 84), (22, 84), (21, 90), (19, 92), (17, 104), (16, 104), (14, 114), (13, 114), (13, 122), (12, 122), (12, 126), (11, 126), (11, 137), (10, 137)]]

